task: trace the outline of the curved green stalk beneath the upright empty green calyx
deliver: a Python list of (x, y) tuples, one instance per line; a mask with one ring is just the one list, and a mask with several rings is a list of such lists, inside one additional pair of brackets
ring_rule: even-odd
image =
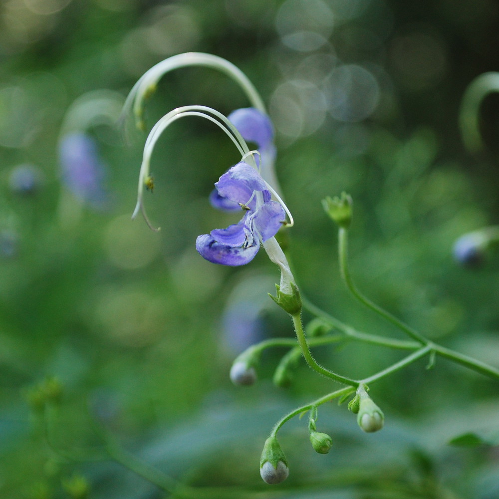
[(420, 333), (418, 333), (415, 329), (399, 320), (390, 312), (387, 312), (380, 306), (376, 305), (376, 303), (373, 303), (369, 298), (364, 296), (357, 289), (350, 275), (350, 269), (348, 267), (348, 230), (343, 227), (339, 229), (338, 246), (341, 276), (343, 277), (343, 280), (345, 281), (345, 284), (347, 285), (350, 292), (366, 307), (370, 308), (377, 314), (381, 315), (385, 320), (404, 331), (412, 339), (418, 341), (422, 345), (428, 344), (428, 340)]

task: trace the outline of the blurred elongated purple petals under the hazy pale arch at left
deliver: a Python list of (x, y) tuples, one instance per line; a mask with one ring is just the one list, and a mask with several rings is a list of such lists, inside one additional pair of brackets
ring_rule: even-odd
[(93, 208), (107, 206), (105, 167), (90, 136), (81, 132), (65, 135), (59, 143), (59, 161), (62, 181), (77, 198)]

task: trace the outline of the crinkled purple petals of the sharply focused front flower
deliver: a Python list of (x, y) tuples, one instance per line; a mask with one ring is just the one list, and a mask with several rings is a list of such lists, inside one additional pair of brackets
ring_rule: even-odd
[(238, 224), (227, 229), (215, 229), (198, 236), (196, 249), (213, 263), (244, 265), (254, 258), (260, 243), (279, 230), (285, 220), (284, 209), (270, 200), (265, 181), (248, 163), (233, 166), (215, 187), (224, 202), (239, 205), (245, 215)]

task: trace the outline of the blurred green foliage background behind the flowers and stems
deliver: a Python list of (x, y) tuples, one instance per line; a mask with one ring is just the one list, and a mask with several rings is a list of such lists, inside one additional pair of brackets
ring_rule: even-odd
[[(343, 322), (400, 337), (340, 281), (335, 229), (321, 199), (348, 191), (359, 287), (428, 337), (498, 366), (497, 259), (469, 269), (452, 257), (460, 235), (499, 219), (497, 96), (483, 106), (485, 152), (468, 153), (458, 128), (467, 85), (497, 68), (497, 4), (366, 0), (345, 7), (324, 0), (344, 18), (325, 45), (308, 52), (286, 46), (276, 21), (282, 4), (1, 4), (1, 497), (76, 497), (61, 485), (75, 473), (88, 480), (90, 498), (164, 497), (115, 464), (72, 462), (47, 445), (26, 395), (46, 376), (63, 385), (55, 447), (79, 452), (97, 445), (91, 423), (97, 418), (125, 448), (163, 471), (194, 486), (236, 486), (234, 498), (248, 489), (255, 497), (288, 499), (499, 496), (498, 448), (448, 445), (465, 432), (499, 431), (497, 383), (444, 360), (429, 371), (419, 362), (373, 386), (386, 417), (379, 434), (360, 434), (344, 406), (322, 407), (320, 431), (333, 437), (327, 456), (313, 453), (306, 423), (286, 425), (280, 441), (290, 477), (272, 488), (261, 483), (259, 453), (274, 422), (332, 388), (304, 365), (290, 389), (272, 386), (280, 351), (263, 357), (254, 387), (238, 389), (228, 379), (239, 351), (228, 347), (223, 332), (226, 303), (246, 279), (249, 294), (264, 296), (278, 273), (263, 251), (235, 269), (195, 251), (197, 235), (232, 220), (207, 201), (213, 183), (238, 160), (215, 127), (182, 120), (161, 139), (154, 195), (146, 200), (159, 234), (129, 221), (145, 140), (139, 132), (126, 146), (117, 130), (89, 131), (108, 166), (113, 204), (68, 215), (57, 145), (64, 115), (82, 94), (105, 88), (125, 96), (151, 65), (190, 50), (239, 66), (267, 103), (279, 85), (301, 74), (310, 54), (362, 64), (381, 89), (369, 116), (341, 122), (325, 113), (310, 134), (293, 137), (277, 128), (277, 175), (296, 221), (284, 244), (299, 285)], [(178, 70), (148, 102), (149, 126), (186, 104), (224, 114), (248, 105), (215, 71)], [(270, 106), (271, 117), (278, 112)], [(313, 113), (304, 116), (305, 125), (313, 121)], [(31, 195), (11, 187), (11, 173), (23, 163), (41, 174)], [(288, 317), (268, 301), (264, 335), (292, 336)], [(318, 352), (325, 365), (352, 377), (382, 369), (398, 355), (354, 344)]]

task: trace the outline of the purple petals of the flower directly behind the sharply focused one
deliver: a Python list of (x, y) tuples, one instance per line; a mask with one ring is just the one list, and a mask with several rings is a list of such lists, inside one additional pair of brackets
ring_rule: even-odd
[[(243, 139), (256, 144), (256, 149), (261, 155), (261, 158), (258, 155), (254, 157), (256, 166), (260, 166), (261, 162), (263, 170), (266, 171), (275, 159), (274, 130), (270, 118), (254, 107), (245, 107), (233, 111), (228, 119), (238, 129)], [(238, 203), (223, 198), (216, 189), (210, 194), (210, 203), (213, 207), (226, 212), (235, 212), (240, 209)]]

